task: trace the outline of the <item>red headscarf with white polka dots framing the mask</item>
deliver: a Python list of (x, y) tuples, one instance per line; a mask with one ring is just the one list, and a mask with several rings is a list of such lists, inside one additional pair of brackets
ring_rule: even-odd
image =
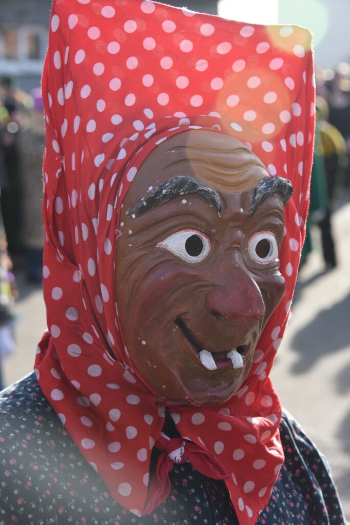
[(54, 0), (43, 74), (48, 331), (35, 371), (112, 497), (139, 516), (167, 495), (149, 488), (166, 400), (134, 370), (119, 322), (123, 197), (147, 154), (188, 129), (234, 135), (271, 176), (292, 181), (280, 257), (287, 291), (245, 383), (221, 406), (169, 406), (188, 447), (225, 467), (239, 522), (255, 523), (283, 463), (269, 372), (304, 239), (314, 132), (310, 40), (296, 26), (248, 25), (150, 1)]

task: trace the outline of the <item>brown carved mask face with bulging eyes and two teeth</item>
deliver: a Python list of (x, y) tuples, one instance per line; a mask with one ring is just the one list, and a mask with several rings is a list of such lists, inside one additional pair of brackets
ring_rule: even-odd
[(289, 190), (241, 142), (205, 130), (166, 140), (137, 172), (119, 226), (117, 302), (133, 364), (167, 402), (224, 403), (247, 376), (284, 293)]

